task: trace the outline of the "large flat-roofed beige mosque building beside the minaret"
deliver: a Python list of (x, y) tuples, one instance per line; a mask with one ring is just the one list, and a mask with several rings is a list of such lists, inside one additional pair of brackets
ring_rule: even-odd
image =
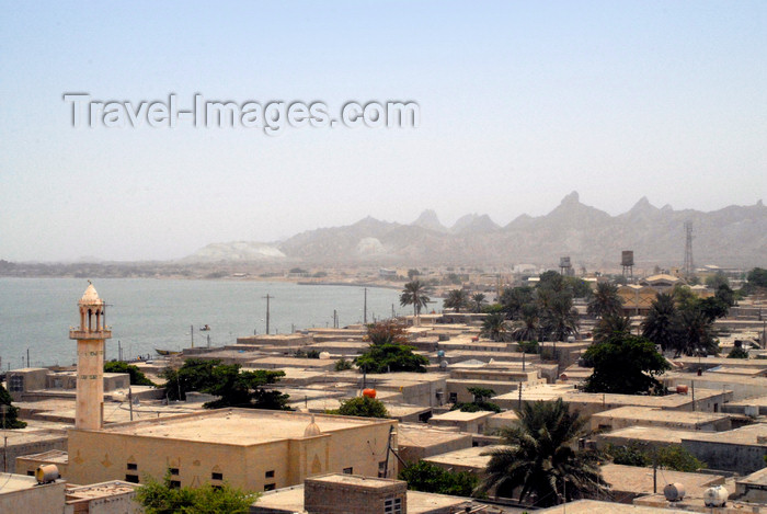
[[(69, 432), (68, 479), (140, 482), (170, 469), (180, 486), (228, 481), (250, 491), (345, 472), (392, 477), (394, 420), (222, 409)], [(393, 432), (393, 433), (390, 433)], [(391, 443), (390, 443), (391, 437)]]

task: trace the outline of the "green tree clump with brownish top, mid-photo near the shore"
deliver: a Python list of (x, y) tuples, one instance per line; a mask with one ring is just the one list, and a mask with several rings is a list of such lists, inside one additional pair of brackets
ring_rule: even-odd
[(408, 345), (407, 330), (392, 321), (369, 324), (367, 352), (354, 359), (360, 373), (416, 372), (426, 373), (428, 358), (413, 353)]

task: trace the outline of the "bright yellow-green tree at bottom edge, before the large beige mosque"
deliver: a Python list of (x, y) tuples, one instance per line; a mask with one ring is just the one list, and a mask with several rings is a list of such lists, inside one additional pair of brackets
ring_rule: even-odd
[(144, 477), (142, 487), (136, 491), (136, 501), (145, 514), (248, 514), (259, 496), (259, 493), (245, 492), (228, 483), (175, 488), (170, 472), (162, 482)]

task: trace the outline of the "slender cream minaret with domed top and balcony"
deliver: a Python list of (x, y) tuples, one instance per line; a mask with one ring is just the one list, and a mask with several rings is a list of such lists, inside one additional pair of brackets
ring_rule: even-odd
[(99, 430), (104, 420), (104, 343), (112, 338), (106, 327), (104, 300), (93, 284), (78, 301), (80, 328), (69, 331), (77, 340), (77, 407), (75, 427)]

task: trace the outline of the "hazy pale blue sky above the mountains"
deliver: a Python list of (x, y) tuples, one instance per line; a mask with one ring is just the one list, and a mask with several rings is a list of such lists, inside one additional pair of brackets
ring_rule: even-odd
[[(0, 3), (0, 259), (170, 259), (573, 190), (767, 196), (767, 2)], [(93, 100), (415, 101), (417, 128), (79, 128)], [(767, 198), (765, 198), (767, 199)]]

